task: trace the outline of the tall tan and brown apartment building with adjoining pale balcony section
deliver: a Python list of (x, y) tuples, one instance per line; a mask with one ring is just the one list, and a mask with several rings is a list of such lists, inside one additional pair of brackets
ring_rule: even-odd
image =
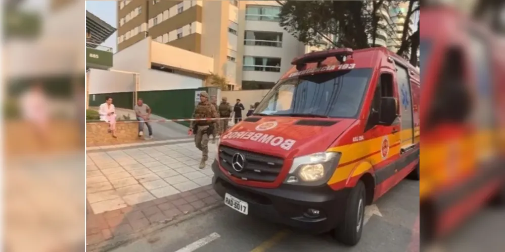
[(150, 36), (212, 57), (213, 72), (226, 76), (230, 89), (269, 88), (294, 57), (317, 49), (279, 26), (276, 1), (132, 0), (117, 8), (118, 51)]

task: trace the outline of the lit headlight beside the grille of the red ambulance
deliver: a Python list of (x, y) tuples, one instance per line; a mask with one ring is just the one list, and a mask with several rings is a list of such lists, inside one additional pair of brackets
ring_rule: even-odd
[(293, 159), (284, 183), (321, 185), (330, 180), (340, 160), (340, 152), (319, 152)]

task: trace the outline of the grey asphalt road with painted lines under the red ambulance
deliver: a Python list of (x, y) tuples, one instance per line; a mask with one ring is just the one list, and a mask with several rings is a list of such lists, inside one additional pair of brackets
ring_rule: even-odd
[(222, 206), (113, 251), (418, 251), (419, 182), (402, 181), (376, 204), (380, 214), (371, 215), (354, 247), (329, 234), (304, 234)]

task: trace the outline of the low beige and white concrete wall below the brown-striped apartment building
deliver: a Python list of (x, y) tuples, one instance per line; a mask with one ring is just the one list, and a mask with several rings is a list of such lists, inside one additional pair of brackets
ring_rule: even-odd
[[(151, 60), (181, 71), (153, 70)], [(133, 74), (114, 71), (139, 73), (139, 91), (200, 88), (204, 86), (204, 79), (212, 67), (213, 59), (210, 57), (153, 42), (148, 37), (114, 54), (112, 71), (91, 69), (89, 94), (135, 91)]]

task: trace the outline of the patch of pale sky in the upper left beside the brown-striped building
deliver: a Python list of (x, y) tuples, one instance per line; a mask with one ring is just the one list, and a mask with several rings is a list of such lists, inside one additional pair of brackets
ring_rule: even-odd
[[(95, 14), (103, 21), (107, 22), (112, 27), (116, 27), (116, 1), (86, 1), (86, 11)], [(116, 32), (112, 34), (102, 45), (112, 47), (114, 52), (117, 51)]]

